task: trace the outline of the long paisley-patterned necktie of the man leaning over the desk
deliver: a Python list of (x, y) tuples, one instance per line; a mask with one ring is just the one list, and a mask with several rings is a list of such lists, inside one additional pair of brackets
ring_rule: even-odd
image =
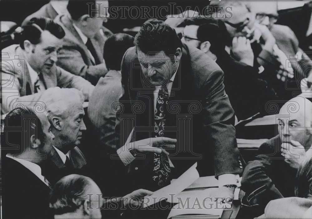
[[(169, 101), (168, 89), (162, 86), (158, 92), (154, 117), (155, 137), (164, 136), (167, 105)], [(162, 188), (168, 184), (171, 172), (168, 156), (161, 153), (154, 153), (153, 182), (156, 188)]]

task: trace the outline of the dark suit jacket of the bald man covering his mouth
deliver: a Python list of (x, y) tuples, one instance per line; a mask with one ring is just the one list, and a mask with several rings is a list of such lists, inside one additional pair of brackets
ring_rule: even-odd
[(280, 152), (279, 135), (263, 143), (255, 160), (247, 163), (241, 188), (250, 205), (263, 207), (277, 198), (295, 196), (296, 169), (285, 162)]

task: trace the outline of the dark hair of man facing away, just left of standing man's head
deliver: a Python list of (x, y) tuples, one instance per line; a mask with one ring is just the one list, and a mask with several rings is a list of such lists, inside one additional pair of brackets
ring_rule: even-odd
[(110, 36), (104, 45), (104, 60), (109, 70), (120, 70), (122, 57), (130, 47), (134, 46), (134, 37), (125, 33)]

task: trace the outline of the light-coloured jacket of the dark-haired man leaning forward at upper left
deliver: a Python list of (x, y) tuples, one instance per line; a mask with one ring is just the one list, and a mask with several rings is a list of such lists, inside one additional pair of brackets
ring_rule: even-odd
[[(11, 45), (3, 49), (1, 55), (2, 113), (10, 112), (18, 104), (37, 103), (41, 93), (34, 92), (22, 48), (19, 45)], [(56, 65), (50, 71), (42, 72), (42, 75), (46, 89), (56, 86), (74, 87), (86, 97), (91, 95), (94, 89), (90, 82)]]

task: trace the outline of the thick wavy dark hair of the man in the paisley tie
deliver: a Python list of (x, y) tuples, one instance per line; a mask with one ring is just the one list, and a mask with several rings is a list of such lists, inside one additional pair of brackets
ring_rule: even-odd
[(157, 19), (144, 22), (134, 38), (134, 43), (136, 49), (139, 48), (145, 54), (164, 51), (167, 56), (174, 55), (177, 48), (183, 47), (175, 30)]

